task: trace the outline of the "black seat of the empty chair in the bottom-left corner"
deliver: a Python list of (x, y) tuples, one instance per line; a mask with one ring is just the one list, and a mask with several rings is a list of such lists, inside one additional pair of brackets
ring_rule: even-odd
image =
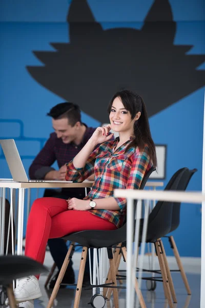
[(8, 285), (12, 280), (48, 272), (48, 269), (25, 256), (0, 256), (0, 284)]

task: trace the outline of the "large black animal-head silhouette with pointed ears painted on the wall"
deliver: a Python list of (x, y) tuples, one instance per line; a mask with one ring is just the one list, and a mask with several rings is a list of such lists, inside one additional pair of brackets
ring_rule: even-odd
[(141, 30), (103, 30), (86, 0), (73, 0), (68, 12), (69, 43), (55, 51), (33, 51), (44, 66), (27, 66), (31, 76), (91, 117), (108, 121), (113, 93), (131, 88), (141, 94), (149, 116), (205, 84), (197, 67), (205, 55), (187, 54), (191, 45), (174, 45), (176, 23), (168, 0), (155, 0)]

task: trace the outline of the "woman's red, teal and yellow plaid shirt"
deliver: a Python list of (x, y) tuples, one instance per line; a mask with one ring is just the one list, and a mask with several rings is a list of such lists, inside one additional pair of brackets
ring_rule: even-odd
[[(67, 181), (83, 182), (93, 172), (95, 174), (92, 189), (84, 200), (113, 197), (116, 188), (139, 189), (142, 179), (152, 167), (148, 147), (142, 153), (138, 147), (130, 147), (126, 151), (131, 142), (128, 140), (113, 152), (118, 141), (119, 138), (116, 138), (99, 145), (91, 153), (84, 168), (75, 168), (73, 161), (67, 164)], [(122, 226), (126, 220), (127, 200), (115, 200), (119, 210), (90, 209), (90, 213), (114, 223), (117, 227)]]

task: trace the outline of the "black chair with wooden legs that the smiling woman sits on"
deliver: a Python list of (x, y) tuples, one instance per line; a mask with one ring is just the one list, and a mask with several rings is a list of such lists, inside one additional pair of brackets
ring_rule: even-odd
[[(143, 189), (145, 187), (145, 184), (151, 175), (151, 173), (155, 170), (154, 167), (152, 167), (144, 177), (144, 179), (141, 182), (140, 189)], [(117, 283), (116, 283), (116, 267), (115, 267), (115, 262), (113, 259), (113, 250), (112, 248), (114, 245), (117, 245), (119, 243), (125, 242), (126, 241), (126, 229), (127, 225), (126, 223), (121, 227), (116, 230), (112, 231), (105, 231), (105, 230), (86, 230), (86, 231), (81, 231), (81, 232), (75, 232), (72, 234), (69, 234), (65, 237), (63, 237), (66, 240), (71, 241), (71, 245), (68, 251), (68, 254), (65, 258), (64, 264), (61, 267), (60, 273), (58, 275), (55, 287), (53, 289), (53, 292), (51, 294), (49, 303), (47, 308), (51, 308), (53, 301), (57, 295), (59, 285), (64, 277), (64, 274), (66, 272), (66, 268), (69, 264), (69, 260), (72, 258), (72, 255), (75, 250), (75, 243), (79, 243), (81, 246), (83, 246), (83, 252), (81, 254), (81, 261), (80, 261), (80, 267), (79, 267), (79, 274), (78, 274), (78, 281), (77, 281), (77, 287), (76, 287), (76, 294), (75, 294), (75, 301), (74, 301), (74, 308), (78, 308), (79, 306), (79, 300), (80, 300), (80, 294), (82, 289), (88, 289), (88, 288), (93, 288), (93, 287), (112, 287), (113, 288), (113, 298), (114, 298), (114, 306), (115, 308), (118, 307), (118, 295), (117, 295)], [(84, 276), (84, 270), (85, 270), (85, 262), (87, 258), (87, 252), (88, 248), (103, 248), (107, 247), (107, 252), (108, 252), (108, 258), (110, 261), (110, 277), (112, 282), (109, 282), (107, 284), (103, 285), (91, 285), (90, 287), (82, 287), (83, 283), (83, 276)], [(121, 246), (115, 246), (118, 247), (121, 251)], [(126, 260), (126, 252), (125, 252), (125, 260)], [(144, 298), (141, 295), (141, 291), (138, 288), (137, 280), (135, 281), (135, 288), (137, 295), (139, 297), (139, 302), (142, 308), (146, 308)], [(101, 307), (103, 308), (105, 306), (105, 298), (99, 294), (95, 294), (91, 298), (91, 305), (95, 307), (95, 300), (96, 297), (101, 297)], [(99, 301), (98, 301), (99, 302)]]

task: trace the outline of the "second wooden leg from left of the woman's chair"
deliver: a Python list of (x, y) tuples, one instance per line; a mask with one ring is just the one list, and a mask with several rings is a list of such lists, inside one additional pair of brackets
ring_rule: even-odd
[(88, 247), (84, 246), (83, 251), (81, 253), (80, 268), (79, 268), (79, 274), (78, 274), (78, 279), (77, 279), (77, 287), (76, 287), (75, 301), (74, 301), (73, 308), (79, 307), (80, 295), (81, 295), (85, 266), (86, 266), (87, 253), (88, 253)]

